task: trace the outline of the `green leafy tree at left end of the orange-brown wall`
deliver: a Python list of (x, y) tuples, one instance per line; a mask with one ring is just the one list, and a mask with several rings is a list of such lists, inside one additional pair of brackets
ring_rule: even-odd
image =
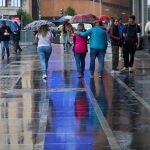
[(23, 9), (18, 9), (17, 10), (17, 15), (21, 15), (22, 18), (22, 26), (24, 27), (25, 25), (27, 25), (28, 23), (32, 22), (33, 19), (30, 16), (29, 13), (27, 13), (26, 11), (24, 11)]

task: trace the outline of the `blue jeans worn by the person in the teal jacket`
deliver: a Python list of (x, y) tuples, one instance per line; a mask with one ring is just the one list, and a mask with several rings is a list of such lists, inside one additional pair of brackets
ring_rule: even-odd
[(105, 57), (105, 50), (101, 49), (90, 49), (90, 73), (94, 73), (95, 71), (95, 59), (96, 57), (98, 58), (99, 62), (99, 68), (98, 68), (98, 73), (101, 75), (103, 73), (104, 69), (104, 57)]

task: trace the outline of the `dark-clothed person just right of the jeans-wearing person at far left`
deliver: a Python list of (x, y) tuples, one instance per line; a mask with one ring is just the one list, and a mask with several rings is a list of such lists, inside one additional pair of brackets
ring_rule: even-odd
[(22, 49), (19, 45), (19, 41), (20, 41), (20, 29), (19, 28), (20, 27), (17, 23), (16, 23), (16, 25), (18, 26), (18, 30), (13, 32), (12, 40), (13, 40), (13, 44), (14, 44), (15, 53), (17, 54), (17, 52), (21, 53)]

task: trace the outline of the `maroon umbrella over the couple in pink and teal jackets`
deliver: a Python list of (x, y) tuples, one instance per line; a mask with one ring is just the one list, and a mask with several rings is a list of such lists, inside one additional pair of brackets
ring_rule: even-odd
[(93, 23), (98, 18), (93, 14), (78, 14), (70, 19), (70, 23)]

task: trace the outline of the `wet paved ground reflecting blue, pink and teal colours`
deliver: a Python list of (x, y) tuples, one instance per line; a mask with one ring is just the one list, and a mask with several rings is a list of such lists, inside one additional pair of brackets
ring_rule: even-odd
[[(137, 51), (133, 74), (77, 78), (72, 51), (53, 45), (47, 82), (34, 45), (0, 60), (0, 150), (149, 150), (150, 54)], [(123, 61), (120, 59), (119, 67)], [(96, 66), (97, 70), (97, 66)]]

